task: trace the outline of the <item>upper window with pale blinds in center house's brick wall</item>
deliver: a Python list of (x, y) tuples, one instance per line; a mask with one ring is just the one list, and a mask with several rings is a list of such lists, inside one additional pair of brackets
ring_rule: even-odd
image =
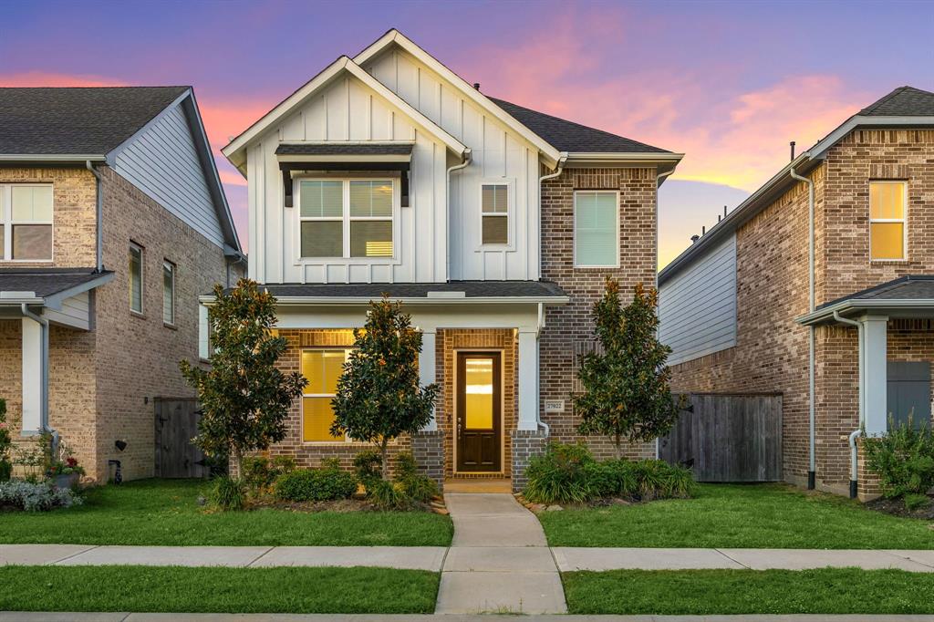
[(574, 265), (619, 265), (619, 193), (574, 192)]

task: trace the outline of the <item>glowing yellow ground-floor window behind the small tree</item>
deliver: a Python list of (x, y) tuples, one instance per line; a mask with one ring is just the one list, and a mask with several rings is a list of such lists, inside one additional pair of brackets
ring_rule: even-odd
[(331, 401), (337, 394), (337, 379), (347, 360), (345, 349), (302, 350), (302, 374), (308, 381), (302, 396), (302, 440), (305, 443), (344, 442), (331, 435), (334, 411)]

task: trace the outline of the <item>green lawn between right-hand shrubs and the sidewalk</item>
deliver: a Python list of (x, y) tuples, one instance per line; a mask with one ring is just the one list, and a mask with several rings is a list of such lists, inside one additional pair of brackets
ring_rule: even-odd
[(924, 520), (779, 484), (708, 484), (694, 499), (538, 517), (552, 546), (934, 548)]

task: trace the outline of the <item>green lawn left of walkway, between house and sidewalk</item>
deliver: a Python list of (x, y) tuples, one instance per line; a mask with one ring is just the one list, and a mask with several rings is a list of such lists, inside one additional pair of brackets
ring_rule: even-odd
[(284, 510), (205, 514), (202, 480), (143, 480), (92, 488), (85, 504), (0, 515), (0, 544), (446, 546), (447, 516), (427, 512)]

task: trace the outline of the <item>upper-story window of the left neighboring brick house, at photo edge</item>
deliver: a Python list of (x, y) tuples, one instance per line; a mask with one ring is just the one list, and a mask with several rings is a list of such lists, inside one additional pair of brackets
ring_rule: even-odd
[(50, 184), (0, 185), (0, 259), (52, 260)]

